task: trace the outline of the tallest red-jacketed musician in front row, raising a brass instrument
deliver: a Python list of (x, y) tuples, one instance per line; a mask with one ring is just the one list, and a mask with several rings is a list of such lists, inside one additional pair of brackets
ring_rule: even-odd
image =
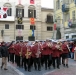
[(51, 63), (52, 63), (52, 42), (49, 39), (46, 39), (44, 44), (42, 45), (42, 56), (44, 57), (44, 64), (45, 64), (45, 70), (47, 70), (47, 67), (50, 69)]

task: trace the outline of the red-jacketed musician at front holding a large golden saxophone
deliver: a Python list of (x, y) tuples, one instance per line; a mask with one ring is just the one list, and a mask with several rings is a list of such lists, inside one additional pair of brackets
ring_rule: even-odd
[(24, 43), (23, 46), (24, 68), (29, 72), (31, 72), (31, 55), (32, 55), (31, 46), (28, 45), (28, 42)]

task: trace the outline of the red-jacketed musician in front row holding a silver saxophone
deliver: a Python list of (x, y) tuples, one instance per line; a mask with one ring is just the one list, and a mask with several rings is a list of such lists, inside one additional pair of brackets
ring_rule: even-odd
[(32, 58), (34, 62), (35, 70), (41, 70), (41, 45), (38, 41), (35, 42), (32, 47)]

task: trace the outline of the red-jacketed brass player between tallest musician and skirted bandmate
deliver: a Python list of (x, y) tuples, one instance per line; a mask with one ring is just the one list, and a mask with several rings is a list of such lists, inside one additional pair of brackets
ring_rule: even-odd
[(52, 47), (53, 53), (52, 53), (52, 61), (53, 61), (53, 67), (56, 68), (55, 61), (57, 63), (57, 68), (60, 69), (60, 55), (62, 52), (61, 44), (60, 42), (54, 42), (54, 45)]

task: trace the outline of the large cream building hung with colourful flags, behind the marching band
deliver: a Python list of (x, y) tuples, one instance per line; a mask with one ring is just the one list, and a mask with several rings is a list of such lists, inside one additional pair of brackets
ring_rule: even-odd
[[(41, 0), (30, 1), (25, 4), (0, 2), (1, 9), (7, 8), (7, 17), (3, 15), (4, 18), (0, 18), (1, 41), (45, 40), (52, 37), (53, 9), (41, 8)], [(50, 21), (47, 20), (48, 14)]]

